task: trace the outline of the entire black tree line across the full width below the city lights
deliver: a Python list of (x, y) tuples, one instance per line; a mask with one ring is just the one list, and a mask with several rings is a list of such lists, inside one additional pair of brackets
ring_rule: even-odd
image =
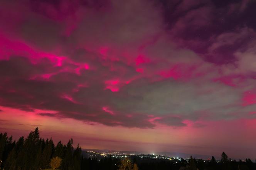
[(185, 159), (145, 162), (140, 157), (132, 157), (133, 161), (112, 157), (98, 160), (83, 157), (81, 147), (73, 147), (72, 138), (66, 145), (60, 141), (55, 146), (52, 139), (40, 138), (38, 128), (30, 132), (27, 138), (20, 137), (17, 142), (7, 133), (0, 134), (0, 170), (43, 170), (50, 168), (52, 158), (61, 160), (61, 170), (256, 170), (256, 163), (250, 159), (246, 159), (246, 162), (231, 160), (224, 152), (219, 163), (214, 157), (205, 161), (195, 160), (192, 156), (189, 162)]

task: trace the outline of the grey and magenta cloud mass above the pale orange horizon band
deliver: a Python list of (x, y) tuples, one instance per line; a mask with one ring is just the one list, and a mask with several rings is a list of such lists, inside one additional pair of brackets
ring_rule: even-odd
[[(202, 127), (197, 120), (237, 119), (255, 110), (242, 101), (256, 88), (255, 42), (244, 43), (255, 37), (254, 28), (244, 23), (230, 30), (227, 22), (221, 32), (212, 25), (222, 23), (214, 13), (229, 18), (230, 2), (223, 8), (185, 0), (166, 6), (146, 0), (2, 3), (15, 22), (0, 17), (2, 106), (140, 128), (183, 127), (184, 120)], [(5, 10), (19, 5), (22, 16)], [(234, 5), (246, 13), (248, 5)]]

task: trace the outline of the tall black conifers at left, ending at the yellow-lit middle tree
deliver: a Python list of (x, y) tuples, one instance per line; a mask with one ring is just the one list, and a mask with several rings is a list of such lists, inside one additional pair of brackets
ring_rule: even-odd
[(7, 133), (0, 134), (0, 169), (3, 170), (43, 170), (50, 168), (52, 158), (60, 157), (61, 170), (116, 170), (120, 160), (105, 157), (84, 158), (81, 147), (73, 147), (73, 140), (66, 145), (59, 141), (55, 146), (52, 139), (40, 138), (38, 127), (27, 138), (13, 141)]

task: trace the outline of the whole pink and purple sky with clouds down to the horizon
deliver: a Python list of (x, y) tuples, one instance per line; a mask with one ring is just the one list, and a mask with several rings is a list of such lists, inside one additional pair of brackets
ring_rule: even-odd
[(1, 0), (0, 130), (256, 158), (256, 1)]

